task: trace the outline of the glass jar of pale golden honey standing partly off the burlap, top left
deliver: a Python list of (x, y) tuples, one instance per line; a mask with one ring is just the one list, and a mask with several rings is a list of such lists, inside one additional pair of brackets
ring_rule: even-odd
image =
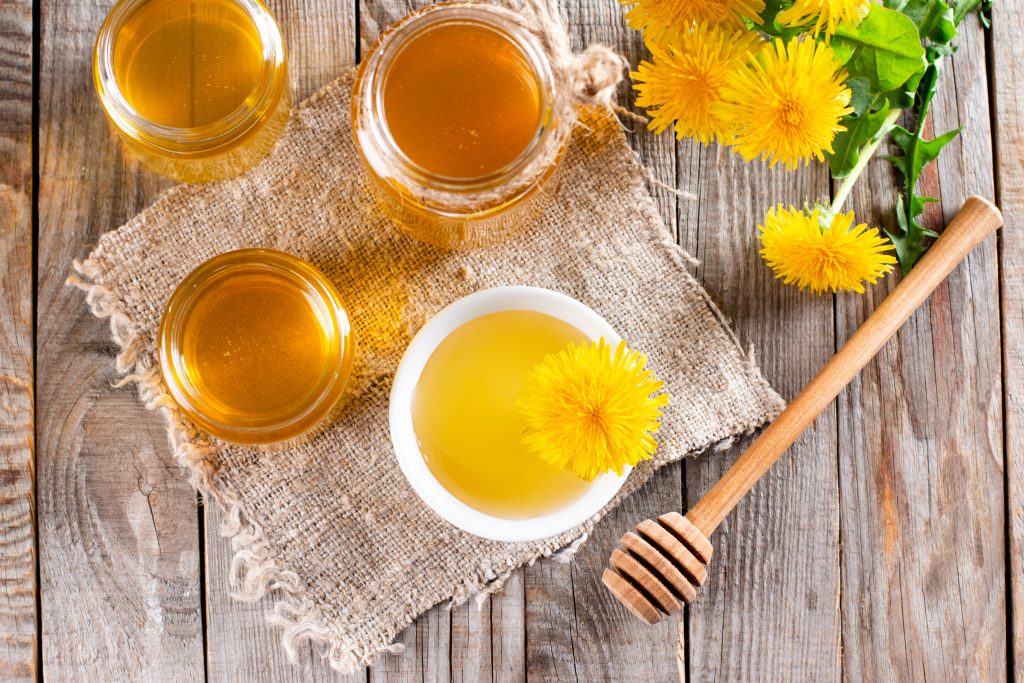
[(260, 0), (121, 0), (93, 65), (115, 130), (159, 173), (242, 173), (273, 147), (290, 109), (285, 45)]

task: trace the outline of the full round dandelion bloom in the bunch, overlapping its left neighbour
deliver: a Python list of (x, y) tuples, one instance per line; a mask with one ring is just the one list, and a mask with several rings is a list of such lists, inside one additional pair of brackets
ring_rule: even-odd
[(831, 48), (813, 40), (781, 39), (751, 55), (749, 69), (729, 72), (713, 111), (734, 131), (733, 147), (746, 161), (761, 157), (795, 169), (824, 160), (840, 120), (852, 110), (846, 72)]

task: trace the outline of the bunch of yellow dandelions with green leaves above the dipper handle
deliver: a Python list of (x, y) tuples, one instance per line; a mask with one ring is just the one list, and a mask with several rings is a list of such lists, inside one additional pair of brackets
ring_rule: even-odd
[[(863, 293), (897, 259), (909, 271), (937, 237), (919, 221), (935, 200), (915, 194), (918, 177), (959, 132), (923, 136), (939, 67), (967, 14), (982, 9), (987, 26), (990, 0), (620, 1), (651, 53), (630, 74), (651, 130), (788, 170), (827, 160), (840, 181), (830, 203), (768, 210), (761, 255), (777, 278)], [(897, 125), (904, 112), (908, 128)], [(902, 179), (888, 239), (842, 212), (887, 137)]]

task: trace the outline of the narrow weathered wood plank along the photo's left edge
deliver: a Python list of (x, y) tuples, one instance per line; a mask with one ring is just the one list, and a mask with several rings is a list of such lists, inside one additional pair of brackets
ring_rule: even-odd
[(0, 3), (0, 679), (36, 676), (32, 3)]

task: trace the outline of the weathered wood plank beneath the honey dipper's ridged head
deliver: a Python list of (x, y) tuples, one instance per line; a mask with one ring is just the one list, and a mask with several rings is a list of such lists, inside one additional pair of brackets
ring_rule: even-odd
[[(613, 0), (563, 2), (573, 48), (603, 43), (635, 66), (646, 50), (638, 32), (627, 28)], [(632, 106), (625, 79), (617, 100)], [(634, 110), (635, 111), (635, 110)], [(626, 121), (628, 138), (653, 177), (676, 186), (675, 140), (655, 136), (643, 124)], [(664, 220), (676, 231), (676, 197), (652, 186)], [(640, 520), (682, 506), (681, 466), (658, 472), (641, 492), (598, 524), (570, 564), (542, 560), (525, 571), (526, 661), (537, 681), (670, 681), (676, 677), (676, 631), (680, 616), (649, 629), (638, 626), (601, 584), (608, 554), (626, 529)]]

